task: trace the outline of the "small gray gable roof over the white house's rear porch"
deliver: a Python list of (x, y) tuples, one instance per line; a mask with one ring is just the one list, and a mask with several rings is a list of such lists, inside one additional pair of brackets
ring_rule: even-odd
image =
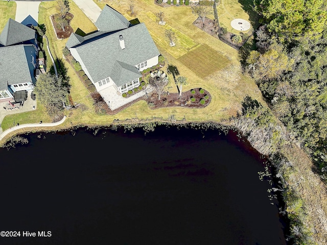
[(111, 74), (111, 79), (118, 87), (126, 84), (127, 81), (133, 81), (142, 77), (135, 66), (121, 61), (116, 61), (112, 68), (114, 72)]

